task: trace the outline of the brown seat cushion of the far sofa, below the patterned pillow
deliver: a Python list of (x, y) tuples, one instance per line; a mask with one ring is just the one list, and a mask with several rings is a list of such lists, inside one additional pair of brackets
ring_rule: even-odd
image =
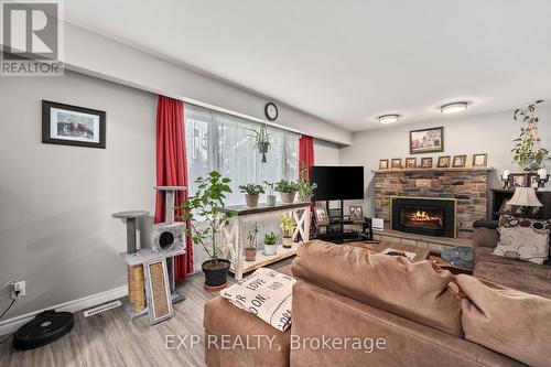
[(496, 256), (486, 247), (475, 249), (475, 259), (476, 278), (551, 299), (551, 266)]

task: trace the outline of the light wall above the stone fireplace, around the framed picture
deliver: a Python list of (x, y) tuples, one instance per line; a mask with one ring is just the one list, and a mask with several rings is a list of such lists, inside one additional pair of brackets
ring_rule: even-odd
[[(551, 106), (538, 108), (540, 116), (540, 134), (542, 147), (551, 149)], [(444, 149), (442, 153), (409, 154), (409, 131), (431, 127), (444, 127)], [(521, 172), (512, 161), (510, 150), (512, 139), (520, 133), (520, 123), (512, 120), (512, 112), (487, 114), (477, 116), (446, 117), (440, 120), (419, 122), (407, 126), (395, 126), (377, 130), (367, 130), (354, 133), (353, 144), (341, 149), (339, 163), (342, 165), (364, 165), (366, 199), (365, 209), (372, 215), (374, 183), (372, 172), (379, 166), (380, 159), (417, 156), (420, 164), (421, 156), (433, 156), (436, 164), (439, 155), (468, 154), (467, 163), (472, 163), (474, 153), (488, 153), (488, 165), (495, 170), (490, 172), (490, 186), (499, 187), (499, 174), (508, 169), (511, 172)], [(548, 164), (549, 169), (549, 164)]]

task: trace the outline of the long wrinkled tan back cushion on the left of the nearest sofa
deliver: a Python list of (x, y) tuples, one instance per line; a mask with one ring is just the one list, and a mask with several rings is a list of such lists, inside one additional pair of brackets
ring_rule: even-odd
[(430, 261), (311, 241), (299, 247), (293, 274), (420, 324), (461, 336), (461, 299), (452, 274)]

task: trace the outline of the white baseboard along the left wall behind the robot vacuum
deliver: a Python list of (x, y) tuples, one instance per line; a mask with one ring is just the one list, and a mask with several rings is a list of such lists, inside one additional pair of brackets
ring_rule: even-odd
[(84, 309), (93, 307), (95, 305), (109, 302), (112, 300), (120, 299), (121, 296), (128, 295), (128, 287), (122, 285), (119, 288), (114, 288), (109, 291), (105, 291), (97, 294), (91, 294), (78, 300), (68, 301), (62, 304), (57, 304), (47, 309), (25, 313), (24, 315), (19, 315), (12, 319), (0, 322), (0, 335), (7, 335), (17, 331), (21, 325), (28, 323), (39, 313), (44, 310), (55, 310), (55, 311), (68, 311), (77, 312)]

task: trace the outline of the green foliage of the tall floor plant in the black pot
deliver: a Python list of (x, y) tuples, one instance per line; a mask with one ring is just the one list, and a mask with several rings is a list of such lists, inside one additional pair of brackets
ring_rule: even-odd
[[(229, 219), (237, 215), (235, 212), (225, 212), (226, 194), (231, 193), (229, 183), (231, 180), (223, 177), (220, 173), (213, 171), (207, 177), (195, 180), (197, 191), (195, 195), (187, 198), (176, 209), (181, 220), (190, 220), (191, 227), (186, 229), (187, 236), (196, 245), (203, 246), (209, 258), (218, 262), (220, 250), (216, 242), (216, 236), (229, 225)], [(197, 220), (206, 226), (197, 226)]]

